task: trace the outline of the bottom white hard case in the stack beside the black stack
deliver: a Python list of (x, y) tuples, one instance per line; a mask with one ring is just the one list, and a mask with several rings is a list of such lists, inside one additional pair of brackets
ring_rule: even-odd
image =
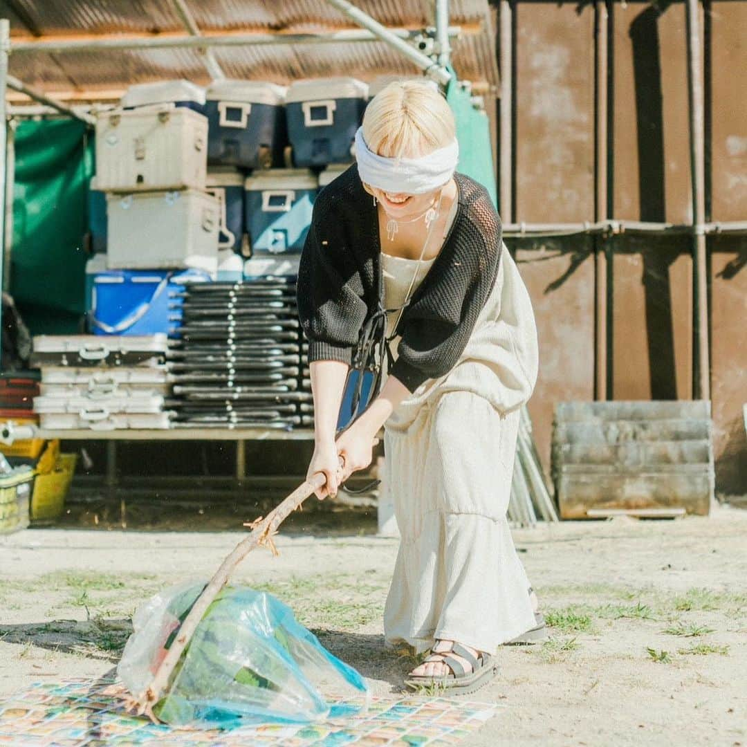
[(119, 430), (169, 427), (170, 414), (163, 412), (164, 397), (137, 394), (111, 397), (36, 397), (34, 412), (47, 430)]

